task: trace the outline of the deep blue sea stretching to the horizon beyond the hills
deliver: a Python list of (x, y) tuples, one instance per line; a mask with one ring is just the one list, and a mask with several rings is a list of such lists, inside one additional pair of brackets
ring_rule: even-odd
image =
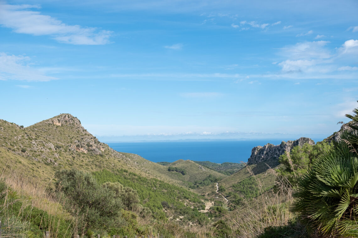
[[(295, 140), (295, 139), (293, 139)], [(321, 141), (321, 139), (313, 139)], [(152, 162), (174, 162), (178, 159), (194, 161), (247, 162), (255, 146), (267, 143), (279, 145), (283, 140), (218, 140), (218, 141), (161, 141), (161, 142), (107, 142), (118, 152), (134, 153)], [(287, 141), (287, 139), (284, 139)]]

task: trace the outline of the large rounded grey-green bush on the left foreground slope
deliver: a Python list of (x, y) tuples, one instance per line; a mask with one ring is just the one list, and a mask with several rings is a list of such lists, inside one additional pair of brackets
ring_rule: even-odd
[[(120, 226), (122, 203), (115, 192), (100, 186), (89, 173), (63, 170), (56, 174), (55, 191), (64, 208), (78, 221), (77, 227), (86, 233), (91, 227)], [(119, 223), (119, 224), (118, 224)]]

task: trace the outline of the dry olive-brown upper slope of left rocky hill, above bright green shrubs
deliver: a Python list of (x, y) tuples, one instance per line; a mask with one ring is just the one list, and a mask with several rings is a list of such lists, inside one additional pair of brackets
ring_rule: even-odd
[[(70, 114), (61, 114), (21, 127), (0, 120), (0, 147), (26, 160), (30, 168), (39, 173), (33, 177), (53, 177), (57, 170), (80, 168), (88, 171), (101, 169), (127, 169), (149, 178), (158, 178), (179, 186), (186, 186), (192, 179), (202, 179), (215, 173), (209, 169), (192, 169), (186, 176), (178, 176), (162, 166), (138, 155), (121, 153), (101, 143), (81, 126), (81, 122)], [(0, 156), (3, 162), (7, 161)], [(217, 177), (224, 177), (222, 174)]]

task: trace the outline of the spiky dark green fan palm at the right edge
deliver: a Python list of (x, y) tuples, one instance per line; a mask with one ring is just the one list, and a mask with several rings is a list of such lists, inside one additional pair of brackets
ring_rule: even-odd
[[(346, 115), (358, 122), (355, 116)], [(297, 181), (291, 211), (311, 230), (327, 236), (358, 237), (358, 126), (319, 157)]]

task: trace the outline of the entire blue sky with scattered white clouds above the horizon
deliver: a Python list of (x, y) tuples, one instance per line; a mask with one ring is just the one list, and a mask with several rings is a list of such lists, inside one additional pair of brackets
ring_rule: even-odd
[(0, 118), (104, 141), (323, 138), (358, 107), (357, 1), (0, 1)]

